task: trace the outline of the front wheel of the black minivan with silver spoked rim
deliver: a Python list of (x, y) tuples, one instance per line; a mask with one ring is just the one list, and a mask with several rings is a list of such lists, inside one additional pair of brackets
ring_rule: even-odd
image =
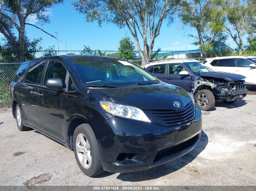
[(88, 124), (81, 124), (75, 129), (73, 148), (78, 166), (85, 175), (94, 177), (105, 172), (97, 140)]

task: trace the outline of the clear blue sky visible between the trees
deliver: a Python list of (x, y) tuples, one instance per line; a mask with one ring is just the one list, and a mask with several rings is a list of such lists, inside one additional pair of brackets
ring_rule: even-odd
[[(58, 38), (62, 40), (62, 42), (59, 41), (59, 50), (65, 50), (65, 42), (67, 42), (67, 50), (81, 50), (83, 45), (90, 46), (93, 50), (117, 50), (119, 41), (125, 33), (135, 42), (127, 27), (119, 29), (114, 24), (103, 24), (102, 27), (98, 27), (96, 22), (87, 23), (85, 15), (75, 11), (71, 2), (64, 1), (63, 4), (56, 5), (48, 11), (50, 24), (41, 25), (35, 18), (30, 19), (30, 23), (41, 27), (48, 33), (56, 35), (55, 32), (58, 32)], [(155, 40), (154, 50), (158, 47), (163, 51), (197, 49), (198, 47), (191, 45), (193, 39), (187, 37), (188, 34), (196, 35), (195, 30), (191, 28), (178, 30), (179, 25), (181, 24), (177, 18), (170, 27), (167, 27), (167, 22), (163, 22), (160, 35)], [(57, 49), (57, 40), (41, 30), (26, 25), (26, 32), (30, 39), (42, 37), (41, 46), (44, 49), (53, 45)], [(228, 40), (228, 44), (235, 48), (232, 40)], [(136, 45), (135, 49), (137, 50)]]

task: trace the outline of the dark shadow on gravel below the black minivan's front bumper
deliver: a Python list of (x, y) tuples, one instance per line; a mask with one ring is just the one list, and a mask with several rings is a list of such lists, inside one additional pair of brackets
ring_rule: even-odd
[[(132, 172), (132, 173), (120, 173), (117, 176), (117, 179), (122, 181), (128, 181), (128, 182), (139, 182), (139, 181), (145, 181), (145, 180), (153, 180), (153, 179), (165, 176), (167, 174), (171, 174), (176, 170), (179, 170), (182, 167), (185, 167), (190, 162), (192, 162), (198, 156), (198, 154), (200, 154), (204, 150), (207, 144), (208, 144), (208, 136), (202, 131), (201, 140), (198, 142), (196, 147), (189, 153), (185, 154), (184, 156), (174, 161), (160, 165), (158, 167), (150, 168), (148, 170)], [(105, 177), (111, 174), (113, 173), (104, 173), (98, 177)]]

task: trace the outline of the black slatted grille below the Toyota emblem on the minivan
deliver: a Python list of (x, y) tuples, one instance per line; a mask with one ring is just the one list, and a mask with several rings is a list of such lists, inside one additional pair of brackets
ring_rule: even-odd
[(163, 121), (167, 126), (181, 125), (194, 119), (192, 101), (189, 102), (182, 110), (150, 110), (149, 112)]

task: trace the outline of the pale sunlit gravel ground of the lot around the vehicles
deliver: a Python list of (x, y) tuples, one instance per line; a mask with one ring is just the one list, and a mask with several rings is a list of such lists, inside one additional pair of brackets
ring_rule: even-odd
[(254, 88), (244, 100), (202, 112), (201, 140), (183, 157), (95, 178), (81, 172), (73, 151), (35, 130), (19, 131), (10, 108), (0, 109), (0, 185), (255, 185), (255, 94)]

